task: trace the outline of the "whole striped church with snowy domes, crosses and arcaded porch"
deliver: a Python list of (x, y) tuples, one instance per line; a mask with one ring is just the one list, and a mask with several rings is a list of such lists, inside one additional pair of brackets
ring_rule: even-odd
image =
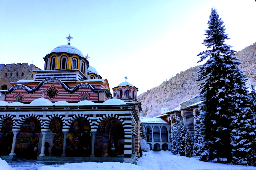
[(113, 98), (108, 80), (88, 58), (70, 43), (60, 45), (43, 58), (44, 69), (34, 70), (33, 80), (0, 90), (2, 159), (136, 160), (138, 88), (123, 82), (113, 88)]

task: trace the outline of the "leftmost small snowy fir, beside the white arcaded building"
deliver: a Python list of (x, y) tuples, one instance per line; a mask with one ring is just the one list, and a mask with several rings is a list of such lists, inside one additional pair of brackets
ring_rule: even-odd
[(178, 154), (177, 150), (177, 142), (178, 142), (178, 136), (179, 136), (179, 126), (180, 126), (180, 118), (176, 119), (176, 122), (172, 125), (172, 148), (171, 152), (175, 155)]

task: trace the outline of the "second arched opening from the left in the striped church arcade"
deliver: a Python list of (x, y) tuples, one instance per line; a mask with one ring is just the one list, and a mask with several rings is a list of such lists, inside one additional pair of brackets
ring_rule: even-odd
[(41, 132), (40, 122), (31, 117), (26, 119), (16, 139), (15, 153), (17, 158), (36, 158), (38, 149), (39, 134)]

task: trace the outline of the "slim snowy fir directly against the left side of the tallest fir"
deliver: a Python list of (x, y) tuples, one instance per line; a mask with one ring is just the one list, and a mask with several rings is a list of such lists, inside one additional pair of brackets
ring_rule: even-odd
[[(202, 113), (204, 114), (204, 112)], [(201, 120), (201, 116), (195, 116), (195, 135), (194, 135), (194, 146), (193, 146), (193, 150), (194, 156), (200, 156), (202, 153), (202, 146), (203, 146), (203, 142), (204, 142), (204, 135), (202, 134), (203, 132), (203, 123)]]

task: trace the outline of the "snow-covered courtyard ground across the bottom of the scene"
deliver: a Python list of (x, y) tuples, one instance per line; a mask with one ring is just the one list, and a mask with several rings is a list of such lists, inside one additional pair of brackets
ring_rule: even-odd
[(118, 162), (66, 163), (65, 165), (44, 165), (36, 162), (10, 162), (0, 160), (0, 170), (256, 170), (256, 167), (201, 162), (197, 157), (173, 155), (170, 151), (144, 152), (137, 165)]

